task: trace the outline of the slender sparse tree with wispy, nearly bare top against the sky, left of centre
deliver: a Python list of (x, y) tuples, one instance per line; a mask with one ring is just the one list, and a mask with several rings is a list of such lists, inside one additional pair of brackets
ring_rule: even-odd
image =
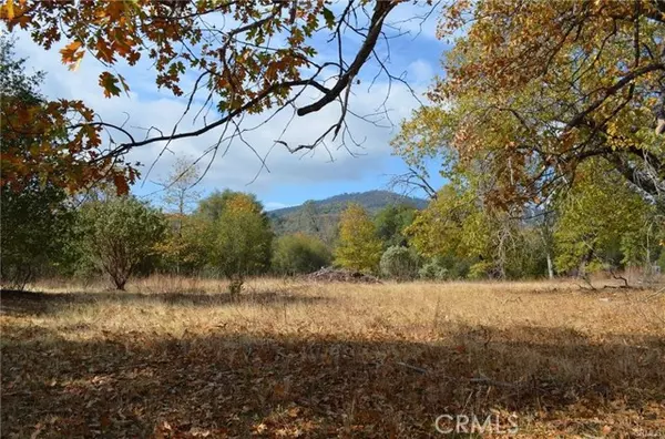
[(201, 172), (196, 164), (192, 164), (186, 159), (177, 159), (173, 165), (171, 174), (160, 182), (164, 187), (163, 203), (166, 206), (168, 215), (168, 227), (166, 238), (160, 245), (160, 253), (165, 261), (175, 266), (175, 273), (180, 274), (184, 253), (191, 243), (185, 242), (184, 228), (192, 225), (192, 221), (187, 221), (187, 213), (192, 208), (200, 193), (194, 191), (193, 186), (201, 178)]

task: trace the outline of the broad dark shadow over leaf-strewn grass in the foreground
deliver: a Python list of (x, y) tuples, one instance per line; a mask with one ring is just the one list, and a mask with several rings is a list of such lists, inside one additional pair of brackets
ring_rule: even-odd
[(526, 437), (598, 436), (608, 425), (618, 436), (665, 432), (656, 336), (459, 327), (432, 344), (100, 337), (40, 328), (3, 340), (2, 437), (415, 438), (437, 436), (440, 415), (505, 422), (511, 412)]

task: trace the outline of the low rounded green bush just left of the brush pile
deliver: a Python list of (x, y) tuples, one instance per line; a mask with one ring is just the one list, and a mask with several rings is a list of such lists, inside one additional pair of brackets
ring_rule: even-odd
[(277, 239), (273, 269), (287, 275), (313, 273), (329, 265), (331, 259), (332, 255), (323, 241), (296, 233)]

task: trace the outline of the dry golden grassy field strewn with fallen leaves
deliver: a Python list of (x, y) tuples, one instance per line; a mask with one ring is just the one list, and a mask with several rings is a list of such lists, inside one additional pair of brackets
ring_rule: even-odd
[(3, 438), (437, 437), (441, 415), (516, 420), (530, 438), (665, 437), (653, 289), (257, 279), (231, 302), (221, 283), (166, 277), (32, 288), (2, 294)]

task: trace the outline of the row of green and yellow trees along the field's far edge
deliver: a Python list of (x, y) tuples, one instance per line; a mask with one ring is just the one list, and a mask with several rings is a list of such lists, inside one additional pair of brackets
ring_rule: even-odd
[(2, 206), (2, 282), (42, 276), (108, 276), (123, 289), (151, 273), (232, 279), (298, 275), (335, 265), (386, 278), (483, 279), (585, 276), (594, 270), (665, 265), (659, 206), (625, 181), (585, 178), (549, 210), (483, 206), (472, 181), (451, 182), (422, 211), (390, 205), (371, 216), (344, 211), (332, 245), (295, 233), (276, 236), (252, 194), (224, 191), (201, 198), (198, 172), (178, 162), (162, 184), (160, 208), (134, 196), (96, 190), (71, 197), (33, 180), (7, 187)]

